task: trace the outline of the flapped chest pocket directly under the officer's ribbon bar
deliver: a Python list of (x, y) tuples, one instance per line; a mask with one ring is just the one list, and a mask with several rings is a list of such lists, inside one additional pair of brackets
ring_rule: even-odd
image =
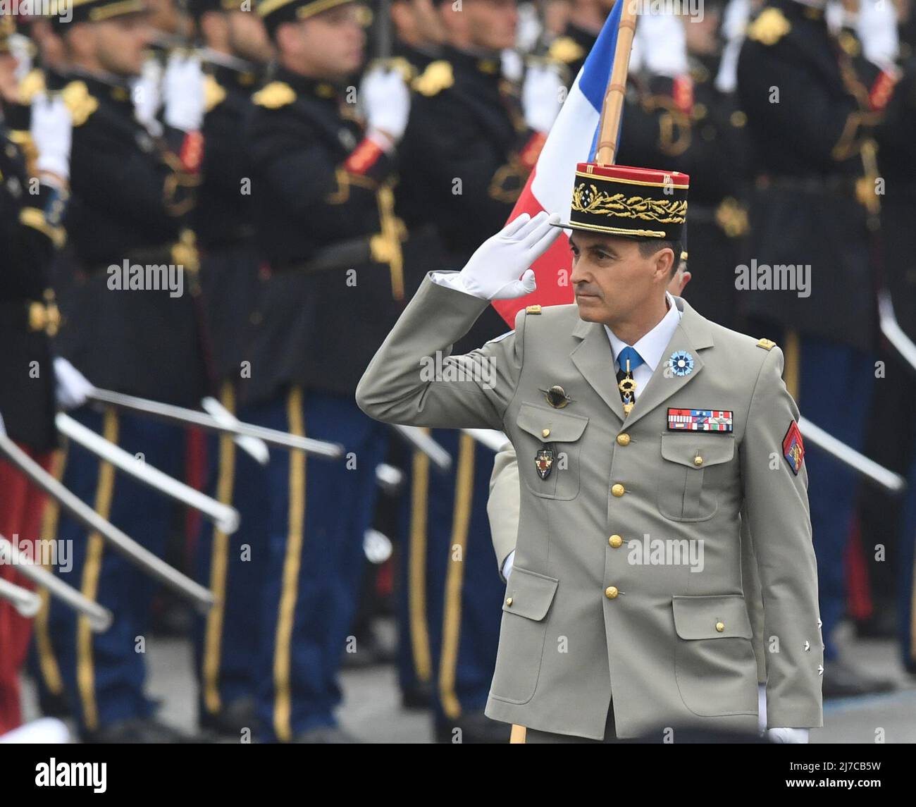
[[(731, 434), (661, 435), (659, 512), (671, 521), (705, 521), (718, 509), (716, 465), (735, 456)], [(719, 480), (721, 482), (721, 480)]]

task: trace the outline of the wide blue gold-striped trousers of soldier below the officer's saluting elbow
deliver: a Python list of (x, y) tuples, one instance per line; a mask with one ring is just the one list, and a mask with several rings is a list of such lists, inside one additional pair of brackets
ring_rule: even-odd
[(364, 571), (363, 537), (376, 505), (376, 465), (387, 427), (352, 397), (299, 387), (249, 409), (256, 423), (340, 442), (346, 459), (271, 452), (260, 596), (257, 711), (263, 739), (287, 742), (334, 725), (342, 654)]

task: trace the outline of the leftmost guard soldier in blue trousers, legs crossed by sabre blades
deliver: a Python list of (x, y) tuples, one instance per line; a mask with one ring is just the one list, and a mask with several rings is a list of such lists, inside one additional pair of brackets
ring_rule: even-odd
[[(196, 251), (183, 229), (197, 183), (202, 97), (173, 81), (165, 140), (137, 123), (128, 82), (147, 47), (142, 0), (75, 0), (62, 27), (71, 81), (61, 96), (72, 119), (71, 202), (67, 211), (67, 297), (62, 353), (93, 384), (145, 398), (196, 406), (202, 354), (193, 296)], [(180, 78), (177, 76), (176, 78)], [(171, 144), (169, 147), (169, 143)], [(182, 473), (184, 432), (154, 420), (83, 408), (83, 424), (173, 476)], [(162, 553), (169, 501), (79, 447), (64, 484), (147, 549)], [(82, 735), (105, 742), (176, 739), (150, 719), (143, 692), (144, 641), (154, 584), (97, 534), (60, 518), (59, 540), (73, 548), (74, 583), (114, 613), (93, 634), (86, 617), (52, 605), (51, 634)]]

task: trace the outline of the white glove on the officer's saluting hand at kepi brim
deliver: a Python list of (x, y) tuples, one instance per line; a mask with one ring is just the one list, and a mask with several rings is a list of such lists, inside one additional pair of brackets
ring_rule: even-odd
[[(562, 233), (559, 213), (522, 213), (477, 247), (459, 272), (461, 290), (480, 300), (514, 300), (537, 288), (529, 268)], [(454, 277), (454, 276), (453, 276)]]

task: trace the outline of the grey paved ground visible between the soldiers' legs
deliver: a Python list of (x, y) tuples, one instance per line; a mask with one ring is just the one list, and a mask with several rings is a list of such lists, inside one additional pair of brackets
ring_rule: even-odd
[[(382, 626), (390, 641), (392, 628)], [(885, 695), (829, 701), (824, 704), (822, 729), (812, 731), (812, 743), (916, 743), (916, 678), (900, 666), (890, 641), (840, 637), (852, 660), (872, 673), (893, 676), (900, 689)], [(181, 639), (147, 642), (150, 693), (162, 700), (162, 719), (191, 731), (196, 719), (196, 689), (191, 675), (191, 646)], [(424, 713), (401, 708), (397, 677), (392, 667), (344, 673), (341, 721), (356, 736), (374, 743), (431, 742), (431, 722)], [(27, 690), (27, 713), (35, 716), (34, 693)]]

